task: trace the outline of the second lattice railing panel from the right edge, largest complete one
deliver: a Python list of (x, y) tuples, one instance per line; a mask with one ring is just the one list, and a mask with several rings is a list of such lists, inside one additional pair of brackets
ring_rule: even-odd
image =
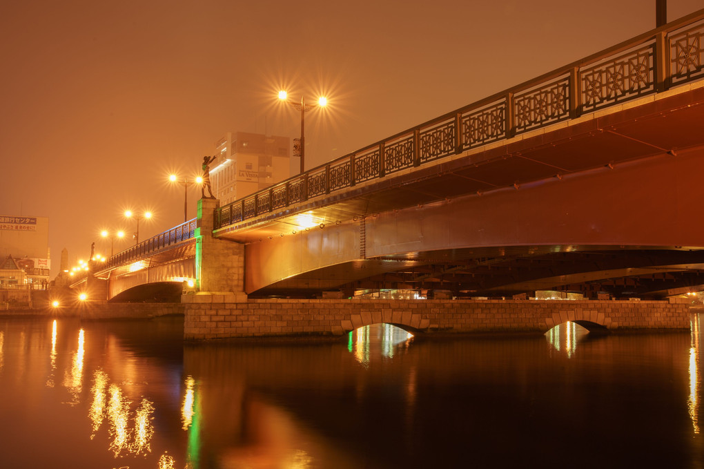
[(655, 45), (640, 49), (581, 71), (582, 112), (613, 104), (655, 91), (653, 54)]

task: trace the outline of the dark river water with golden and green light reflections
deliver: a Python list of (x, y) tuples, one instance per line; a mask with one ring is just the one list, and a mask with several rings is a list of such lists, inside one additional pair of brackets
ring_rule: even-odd
[(0, 468), (704, 467), (692, 332), (182, 342), (0, 318)]

